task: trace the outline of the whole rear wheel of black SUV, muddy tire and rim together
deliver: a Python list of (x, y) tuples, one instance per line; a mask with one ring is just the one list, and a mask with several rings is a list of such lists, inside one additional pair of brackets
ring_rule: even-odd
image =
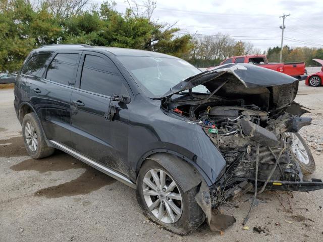
[(48, 147), (36, 114), (27, 113), (22, 121), (22, 135), (28, 154), (34, 159), (50, 156), (55, 149)]

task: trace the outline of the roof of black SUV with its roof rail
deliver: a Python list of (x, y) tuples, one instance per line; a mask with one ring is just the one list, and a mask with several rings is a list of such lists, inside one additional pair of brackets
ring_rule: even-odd
[(140, 50), (140, 49), (128, 49), (128, 48), (117, 48), (117, 47), (105, 47), (105, 46), (91, 46), (87, 44), (52, 44), (52, 45), (43, 45), (40, 46), (38, 49), (34, 49), (34, 51), (55, 51), (55, 50), (100, 50), (106, 51), (114, 54), (115, 56), (149, 56), (149, 57), (161, 57), (161, 58), (176, 58), (178, 57), (147, 51), (147, 50)]

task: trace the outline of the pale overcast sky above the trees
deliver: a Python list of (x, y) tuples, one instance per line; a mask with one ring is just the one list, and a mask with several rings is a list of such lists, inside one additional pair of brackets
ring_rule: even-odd
[[(92, 0), (101, 3), (103, 0)], [(117, 10), (128, 4), (116, 0)], [(323, 47), (323, 0), (156, 0), (153, 19), (175, 23), (181, 33), (217, 35), (250, 41), (266, 50), (281, 44), (282, 16), (285, 20), (284, 45)], [(141, 0), (137, 3), (142, 4)], [(246, 36), (246, 37), (244, 37)], [(285, 39), (286, 37), (286, 39)]]

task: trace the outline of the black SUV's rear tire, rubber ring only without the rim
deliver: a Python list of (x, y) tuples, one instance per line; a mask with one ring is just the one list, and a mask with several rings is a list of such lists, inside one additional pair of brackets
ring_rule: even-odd
[[(27, 144), (25, 129), (26, 129), (26, 125), (28, 122), (30, 122), (34, 126), (35, 133), (37, 135), (36, 140), (37, 140), (38, 145), (34, 151), (31, 150), (29, 148), (29, 145)], [(47, 146), (44, 135), (43, 135), (40, 127), (41, 126), (39, 124), (38, 118), (36, 117), (35, 113), (30, 112), (24, 116), (23, 121), (22, 121), (22, 135), (24, 138), (26, 150), (27, 150), (28, 154), (34, 159), (40, 159), (40, 158), (50, 156), (55, 151), (55, 148)]]

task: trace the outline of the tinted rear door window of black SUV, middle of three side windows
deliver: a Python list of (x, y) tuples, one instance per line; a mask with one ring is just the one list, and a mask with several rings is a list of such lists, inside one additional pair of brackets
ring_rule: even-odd
[(47, 69), (46, 79), (65, 85), (75, 83), (75, 67), (77, 61), (78, 54), (57, 54)]

